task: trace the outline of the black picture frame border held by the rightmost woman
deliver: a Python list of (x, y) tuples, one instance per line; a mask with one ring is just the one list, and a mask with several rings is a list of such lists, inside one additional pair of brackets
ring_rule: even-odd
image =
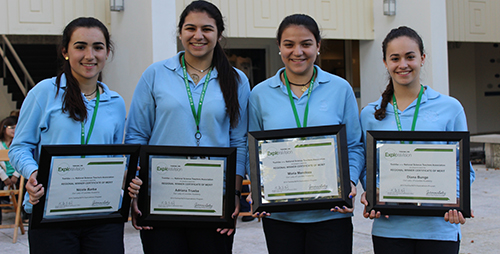
[[(367, 200), (366, 210), (380, 211), (383, 215), (444, 216), (450, 209), (462, 212), (466, 218), (471, 217), (470, 209), (470, 161), (469, 132), (463, 131), (367, 131), (366, 133), (366, 165), (367, 165)], [(378, 145), (384, 143), (400, 144), (455, 144), (458, 153), (459, 196), (455, 204), (410, 203), (410, 202), (378, 202)], [(455, 177), (456, 179), (456, 177)]]

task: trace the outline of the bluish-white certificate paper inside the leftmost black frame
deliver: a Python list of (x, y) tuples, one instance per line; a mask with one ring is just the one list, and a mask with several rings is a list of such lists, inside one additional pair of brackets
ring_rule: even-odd
[(126, 160), (126, 157), (53, 159), (45, 216), (118, 211)]

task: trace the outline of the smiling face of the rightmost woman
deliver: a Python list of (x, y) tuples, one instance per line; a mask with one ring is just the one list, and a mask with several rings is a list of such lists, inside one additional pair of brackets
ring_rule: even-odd
[(401, 36), (387, 44), (384, 64), (394, 85), (420, 86), (420, 69), (424, 62), (425, 54), (410, 37)]

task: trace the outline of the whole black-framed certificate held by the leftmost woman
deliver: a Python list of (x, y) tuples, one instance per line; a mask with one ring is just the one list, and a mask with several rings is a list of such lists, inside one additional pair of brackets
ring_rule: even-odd
[(31, 227), (126, 222), (139, 145), (43, 145)]

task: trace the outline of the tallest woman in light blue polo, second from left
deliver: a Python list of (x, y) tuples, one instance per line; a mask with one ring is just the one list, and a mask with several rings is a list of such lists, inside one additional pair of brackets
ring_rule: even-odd
[[(223, 31), (222, 14), (212, 3), (193, 1), (184, 9), (178, 33), (185, 51), (144, 71), (132, 98), (125, 142), (235, 147), (238, 193), (245, 175), (250, 85), (245, 74), (229, 63), (219, 43)], [(236, 218), (239, 196), (235, 200), (237, 207), (231, 213)], [(136, 228), (142, 229), (145, 253), (232, 250), (234, 229)]]

